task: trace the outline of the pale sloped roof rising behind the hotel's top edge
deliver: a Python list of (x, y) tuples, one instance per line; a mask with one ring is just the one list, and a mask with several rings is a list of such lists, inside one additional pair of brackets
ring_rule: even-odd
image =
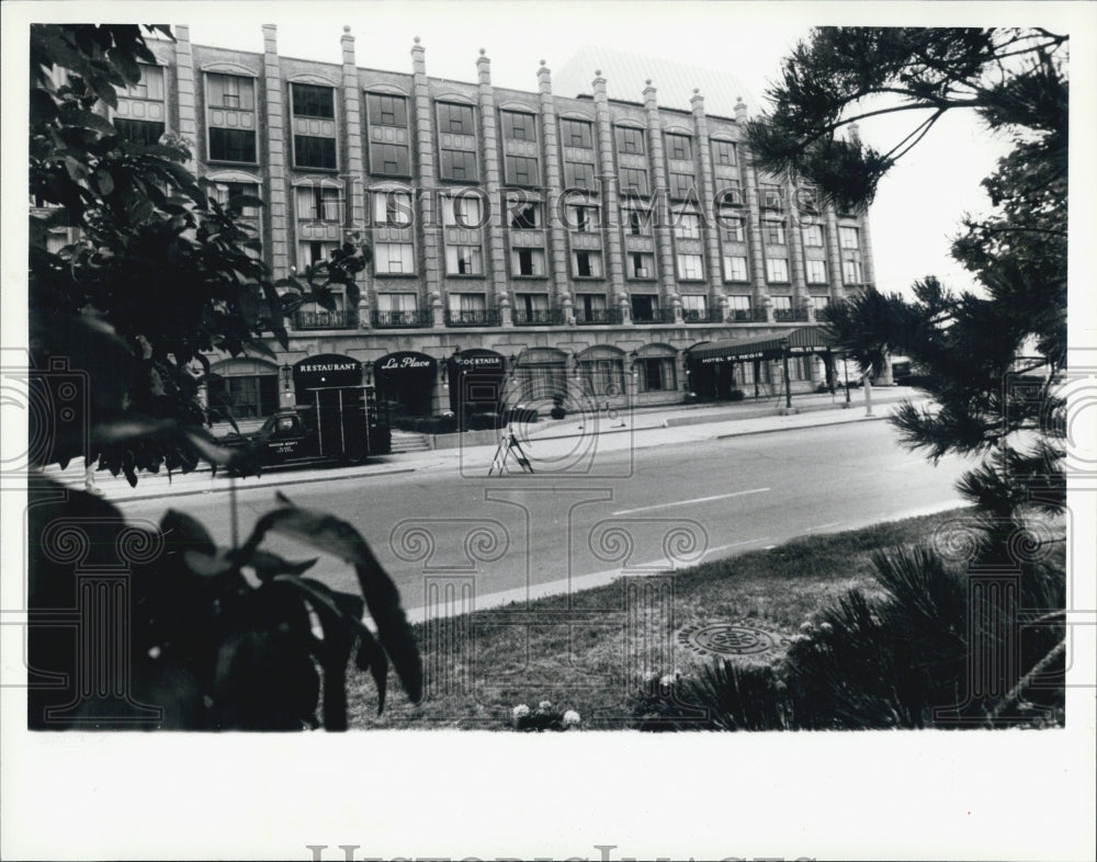
[(740, 97), (751, 115), (760, 110), (751, 93), (730, 72), (599, 45), (584, 45), (559, 69), (553, 69), (553, 92), (589, 95), (590, 82), (598, 70), (606, 78), (607, 95), (622, 102), (643, 102), (644, 88), (651, 79), (659, 107), (691, 111), (689, 100), (698, 88), (704, 97), (706, 114), (734, 120), (735, 102)]

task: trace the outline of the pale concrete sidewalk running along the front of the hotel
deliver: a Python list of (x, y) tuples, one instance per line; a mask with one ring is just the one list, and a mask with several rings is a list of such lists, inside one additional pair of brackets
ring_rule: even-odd
[[(514, 429), (514, 432), (539, 474), (566, 476), (568, 467), (579, 467), (575, 475), (585, 476), (581, 469), (599, 453), (622, 452), (651, 446), (682, 445), (703, 440), (716, 440), (745, 434), (762, 434), (803, 428), (845, 424), (849, 422), (886, 419), (894, 406), (904, 399), (920, 400), (920, 393), (905, 387), (873, 389), (873, 415), (868, 416), (863, 392), (853, 393), (848, 408), (844, 394), (832, 399), (829, 394), (793, 397), (796, 412), (784, 413), (774, 399), (742, 401), (721, 405), (675, 405), (667, 408), (611, 410), (578, 419), (557, 422), (536, 422)], [(131, 488), (124, 477), (97, 473), (95, 485), (103, 497), (112, 502), (148, 500), (188, 495), (217, 494), (257, 488), (284, 488), (315, 481), (369, 479), (393, 474), (418, 470), (454, 470), (470, 478), (486, 478), (497, 451), (497, 442), (479, 445), (459, 445), (394, 455), (380, 455), (371, 463), (357, 467), (285, 468), (265, 470), (262, 476), (229, 479), (224, 473), (214, 475), (208, 468), (183, 475), (176, 473), (138, 476), (137, 487)], [(510, 473), (517, 465), (509, 462)], [(82, 488), (82, 463), (70, 464), (66, 470), (49, 467), (46, 475), (63, 484)]]

